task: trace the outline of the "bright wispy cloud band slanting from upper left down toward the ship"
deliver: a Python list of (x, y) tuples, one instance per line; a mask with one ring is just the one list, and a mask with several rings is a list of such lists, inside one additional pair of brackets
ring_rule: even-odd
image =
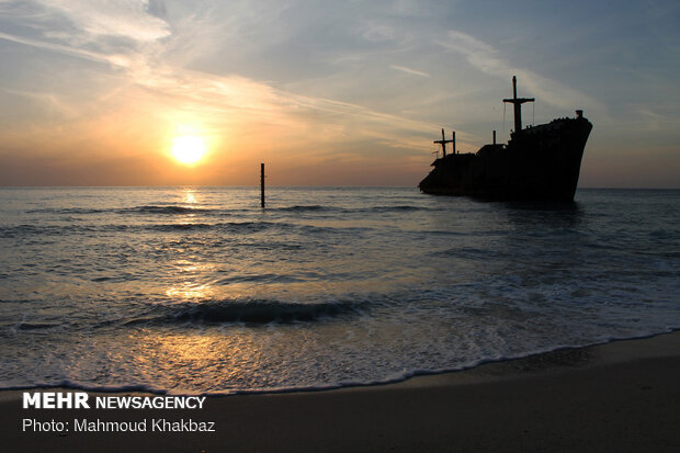
[[(359, 103), (286, 91), (236, 72), (209, 73), (183, 67), (188, 63), (184, 55), (195, 57), (199, 49), (208, 48), (205, 42), (197, 43), (202, 46), (192, 45), (186, 30), (190, 25), (194, 30), (203, 23), (204, 32), (217, 34), (218, 27), (205, 14), (185, 16), (178, 29), (159, 18), (167, 14), (159, 2), (133, 1), (102, 5), (102, 10), (95, 3), (82, 1), (45, 0), (41, 4), (45, 14), (59, 15), (66, 25), (58, 29), (53, 23), (39, 37), (0, 33), (0, 38), (110, 65), (118, 79), (144, 89), (137, 94), (146, 97), (144, 102), (166, 106), (158, 113), (160, 118), (188, 117), (202, 123), (205, 132), (216, 134), (225, 124), (231, 126), (231, 134), (241, 135), (256, 127), (275, 127), (283, 135), (281, 138), (291, 144), (306, 139), (333, 146), (339, 141), (377, 140), (386, 147), (407, 147), (413, 145), (409, 135), (429, 127), (427, 123)], [(127, 39), (127, 44), (109, 45), (112, 37)], [(395, 65), (393, 69), (429, 77), (403, 66)], [(395, 124), (399, 124), (396, 136)], [(314, 129), (325, 133), (310, 135)], [(360, 147), (351, 151), (361, 152)]]

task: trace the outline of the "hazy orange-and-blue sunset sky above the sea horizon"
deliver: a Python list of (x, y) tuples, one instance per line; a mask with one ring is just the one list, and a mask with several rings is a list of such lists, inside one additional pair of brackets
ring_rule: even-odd
[[(416, 186), (524, 124), (580, 186), (680, 188), (680, 2), (0, 0), (0, 185)], [(199, 141), (194, 163), (173, 157)]]

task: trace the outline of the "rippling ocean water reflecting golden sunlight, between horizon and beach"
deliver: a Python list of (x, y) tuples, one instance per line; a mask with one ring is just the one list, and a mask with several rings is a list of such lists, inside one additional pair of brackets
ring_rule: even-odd
[(382, 383), (680, 328), (680, 191), (0, 189), (0, 388)]

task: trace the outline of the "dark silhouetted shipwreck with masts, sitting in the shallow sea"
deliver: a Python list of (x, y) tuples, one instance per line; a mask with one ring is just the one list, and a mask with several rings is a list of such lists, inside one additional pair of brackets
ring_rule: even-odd
[[(476, 154), (460, 154), (452, 139), (435, 140), (442, 157), (418, 186), (424, 193), (468, 195), (491, 200), (573, 201), (581, 168), (581, 157), (592, 124), (577, 110), (575, 118), (522, 128), (522, 104), (533, 98), (517, 97), (517, 78), (512, 77), (514, 132), (507, 145), (494, 143)], [(453, 152), (446, 154), (446, 144)]]

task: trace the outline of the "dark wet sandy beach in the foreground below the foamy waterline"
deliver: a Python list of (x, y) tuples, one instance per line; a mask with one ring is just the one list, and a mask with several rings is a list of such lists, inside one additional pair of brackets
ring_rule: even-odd
[[(680, 451), (680, 332), (201, 410), (36, 410), (0, 395), (5, 451)], [(92, 394), (93, 395), (93, 394)], [(120, 394), (116, 394), (120, 395)], [(215, 432), (22, 432), (22, 420), (214, 422)]]

